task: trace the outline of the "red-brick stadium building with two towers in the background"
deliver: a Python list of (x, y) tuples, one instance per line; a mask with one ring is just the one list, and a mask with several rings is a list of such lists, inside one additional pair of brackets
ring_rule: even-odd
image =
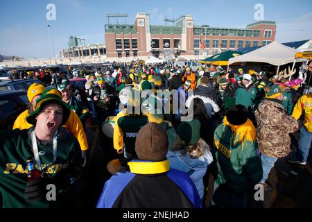
[(196, 26), (191, 15), (176, 19), (172, 26), (150, 25), (147, 13), (139, 12), (135, 24), (106, 24), (107, 58), (155, 56), (169, 52), (198, 56), (220, 49), (226, 51), (269, 44), (275, 40), (276, 24), (261, 21), (246, 28)]

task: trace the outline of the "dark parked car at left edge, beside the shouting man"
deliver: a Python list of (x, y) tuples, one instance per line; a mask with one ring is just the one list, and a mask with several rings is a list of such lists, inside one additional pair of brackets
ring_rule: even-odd
[(0, 130), (12, 129), (15, 119), (27, 110), (28, 104), (26, 91), (1, 91)]

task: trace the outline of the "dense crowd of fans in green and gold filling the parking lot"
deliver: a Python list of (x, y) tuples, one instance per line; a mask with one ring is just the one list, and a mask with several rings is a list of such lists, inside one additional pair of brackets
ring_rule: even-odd
[[(312, 61), (306, 64), (311, 74)], [(69, 81), (79, 76), (87, 80), (83, 89)], [(119, 153), (107, 164), (112, 178), (96, 207), (202, 207), (207, 178), (214, 179), (211, 205), (247, 207), (254, 185), (274, 189), (268, 174), (279, 157), (291, 153), (290, 133), (300, 129), (297, 158), (289, 162), (308, 161), (312, 94), (303, 94), (306, 81), (295, 77), (166, 63), (115, 64), (114, 69), (98, 68), (89, 75), (74, 69), (28, 75), (54, 87), (32, 85), (31, 105), (15, 121), (17, 130), (0, 135), (3, 207), (76, 203), (87, 162), (88, 118), (100, 127), (113, 119), (112, 140)], [(302, 115), (303, 123), (298, 121)], [(49, 167), (35, 184), (27, 182), (24, 169), (34, 146), (48, 155), (41, 159)], [(61, 187), (59, 205), (24, 196), (24, 189), (41, 196), (43, 178)]]

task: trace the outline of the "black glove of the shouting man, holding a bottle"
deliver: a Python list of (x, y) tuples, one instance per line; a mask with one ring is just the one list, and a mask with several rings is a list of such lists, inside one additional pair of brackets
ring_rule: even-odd
[(27, 202), (37, 202), (43, 199), (43, 181), (37, 178), (27, 182), (25, 189), (25, 197)]

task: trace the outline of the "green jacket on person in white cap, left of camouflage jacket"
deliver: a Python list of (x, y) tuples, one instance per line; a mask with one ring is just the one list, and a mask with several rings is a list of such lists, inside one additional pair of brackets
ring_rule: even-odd
[(253, 84), (250, 85), (248, 88), (246, 88), (245, 85), (240, 84), (239, 88), (236, 89), (234, 99), (236, 105), (241, 104), (245, 105), (246, 108), (249, 108), (254, 105), (254, 99), (256, 99), (256, 96), (257, 89), (254, 87)]

